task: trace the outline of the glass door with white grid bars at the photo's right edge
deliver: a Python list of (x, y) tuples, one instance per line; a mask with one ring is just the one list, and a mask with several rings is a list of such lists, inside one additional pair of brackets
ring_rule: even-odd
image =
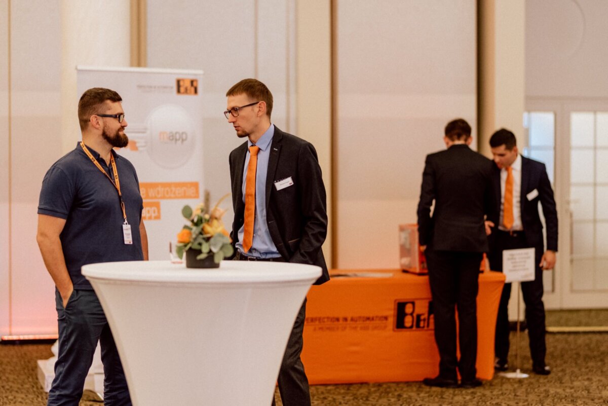
[(572, 228), (566, 303), (595, 308), (608, 306), (608, 109), (584, 107), (567, 112)]

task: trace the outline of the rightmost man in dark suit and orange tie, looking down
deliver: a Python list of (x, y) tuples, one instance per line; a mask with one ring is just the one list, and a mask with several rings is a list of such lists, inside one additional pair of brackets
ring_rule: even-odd
[[(496, 207), (489, 218), (488, 226), (498, 225), (490, 235), (489, 262), (492, 270), (502, 272), (502, 252), (507, 249), (534, 248), (535, 279), (522, 282), (523, 301), (526, 305), (530, 354), (534, 373), (548, 375), (545, 364), (545, 307), (542, 303), (542, 271), (553, 269), (558, 250), (558, 213), (553, 199), (553, 189), (544, 163), (521, 156), (517, 152), (513, 132), (499, 129), (490, 138), (494, 170), (492, 184)], [(547, 224), (547, 250), (544, 250), (542, 222), (538, 204)], [(500, 297), (496, 320), (495, 368), (506, 371), (509, 354), (508, 304), (511, 284), (505, 284)]]

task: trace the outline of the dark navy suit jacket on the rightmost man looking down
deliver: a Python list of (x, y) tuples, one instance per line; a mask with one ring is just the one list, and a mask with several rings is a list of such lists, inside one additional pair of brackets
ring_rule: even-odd
[[(494, 165), (492, 169), (492, 185), (494, 199), (497, 202), (492, 210), (490, 220), (499, 225), (500, 221), (500, 169)], [(538, 191), (537, 196), (528, 200), (527, 196)], [(547, 225), (547, 249), (558, 250), (558, 212), (553, 199), (553, 189), (547, 175), (545, 164), (522, 156), (522, 188), (521, 207), (523, 231), (530, 247), (538, 247), (544, 252), (542, 237), (542, 222), (538, 212), (538, 203), (541, 202), (542, 213)], [(494, 238), (490, 235), (490, 245), (494, 248)]]

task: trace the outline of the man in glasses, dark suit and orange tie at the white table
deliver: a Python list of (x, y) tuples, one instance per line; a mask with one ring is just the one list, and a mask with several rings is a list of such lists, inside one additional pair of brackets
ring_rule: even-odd
[[(313, 264), (330, 279), (321, 246), (327, 234), (325, 185), (314, 146), (271, 123), (272, 94), (244, 79), (226, 93), (226, 119), (247, 141), (230, 153), (236, 259)], [(278, 374), (285, 406), (311, 404), (300, 360), (306, 300), (295, 320)], [(272, 399), (274, 405), (274, 399)]]

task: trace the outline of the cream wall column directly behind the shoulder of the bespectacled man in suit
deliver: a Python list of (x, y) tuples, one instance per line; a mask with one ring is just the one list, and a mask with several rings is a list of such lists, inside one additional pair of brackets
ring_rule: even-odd
[(332, 69), (331, 0), (296, 3), (296, 111), (295, 134), (313, 143), (319, 155), (327, 192), (329, 225), (323, 253), (333, 263), (332, 185)]

